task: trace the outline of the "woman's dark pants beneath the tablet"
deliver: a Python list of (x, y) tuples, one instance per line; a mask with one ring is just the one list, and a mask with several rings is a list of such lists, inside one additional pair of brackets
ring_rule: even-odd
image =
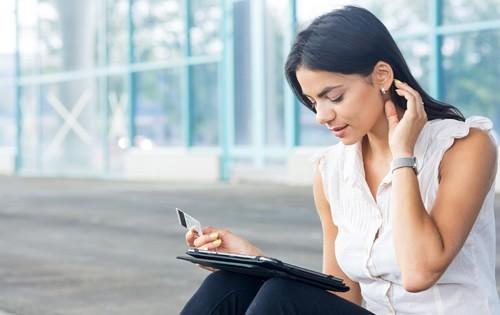
[(284, 278), (262, 280), (243, 274), (212, 272), (184, 306), (181, 315), (372, 314), (314, 286)]

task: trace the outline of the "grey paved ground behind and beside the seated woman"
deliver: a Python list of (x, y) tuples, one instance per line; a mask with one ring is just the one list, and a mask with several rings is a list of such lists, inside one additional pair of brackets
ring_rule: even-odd
[(0, 177), (0, 200), (0, 315), (178, 314), (208, 272), (175, 259), (175, 207), (321, 270), (310, 188)]

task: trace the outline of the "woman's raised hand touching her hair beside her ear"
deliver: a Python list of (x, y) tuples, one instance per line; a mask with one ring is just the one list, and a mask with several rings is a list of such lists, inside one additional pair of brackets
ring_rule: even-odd
[(427, 122), (427, 114), (420, 94), (408, 84), (394, 80), (396, 93), (406, 98), (406, 111), (398, 119), (396, 105), (385, 102), (385, 114), (389, 124), (389, 147), (393, 158), (413, 156), (418, 135)]

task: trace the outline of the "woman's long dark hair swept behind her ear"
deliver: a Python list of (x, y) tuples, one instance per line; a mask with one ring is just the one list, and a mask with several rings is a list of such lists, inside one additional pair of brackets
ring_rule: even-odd
[[(316, 113), (297, 81), (299, 66), (368, 76), (378, 61), (387, 62), (395, 78), (418, 91), (428, 120), (451, 118), (465, 121), (458, 108), (432, 98), (422, 89), (387, 28), (363, 8), (346, 6), (317, 17), (297, 35), (286, 60), (285, 75), (300, 102)], [(392, 101), (406, 109), (406, 99), (397, 95), (394, 89), (391, 85)]]

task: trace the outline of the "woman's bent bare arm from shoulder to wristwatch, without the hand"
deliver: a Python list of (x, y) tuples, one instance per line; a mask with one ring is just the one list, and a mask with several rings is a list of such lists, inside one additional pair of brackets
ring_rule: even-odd
[(436, 200), (427, 213), (415, 173), (394, 172), (391, 212), (396, 257), (407, 291), (426, 290), (462, 248), (491, 187), (497, 148), (481, 130), (470, 129), (445, 153)]

